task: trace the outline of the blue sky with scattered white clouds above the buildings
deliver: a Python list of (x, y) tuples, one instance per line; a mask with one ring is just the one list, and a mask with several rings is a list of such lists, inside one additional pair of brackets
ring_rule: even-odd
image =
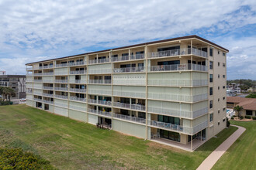
[(255, 0), (0, 0), (0, 70), (197, 35), (230, 50), (227, 79), (256, 80)]

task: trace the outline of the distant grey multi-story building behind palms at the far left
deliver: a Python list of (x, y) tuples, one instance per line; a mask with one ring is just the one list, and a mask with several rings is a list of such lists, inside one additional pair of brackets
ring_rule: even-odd
[(0, 87), (11, 87), (12, 99), (26, 98), (26, 75), (0, 75)]

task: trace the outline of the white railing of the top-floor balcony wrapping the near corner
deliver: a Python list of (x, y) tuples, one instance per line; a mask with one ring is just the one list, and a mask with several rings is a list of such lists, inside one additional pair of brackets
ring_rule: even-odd
[[(159, 58), (159, 57), (168, 57), (168, 56), (181, 56), (191, 54), (191, 48), (188, 49), (171, 49), (166, 51), (152, 52), (147, 54), (147, 58)], [(208, 54), (205, 51), (200, 49), (192, 49), (192, 54), (195, 56), (202, 56), (207, 58)]]

